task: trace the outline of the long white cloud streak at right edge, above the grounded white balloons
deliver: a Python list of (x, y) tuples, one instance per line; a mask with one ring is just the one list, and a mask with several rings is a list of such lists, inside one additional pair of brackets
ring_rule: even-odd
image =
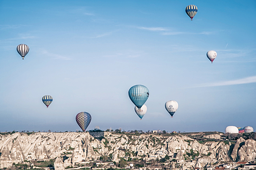
[(231, 80), (231, 81), (224, 81), (224, 82), (217, 82), (217, 83), (201, 84), (201, 85), (197, 85), (197, 86), (194, 86), (194, 87), (212, 87), (212, 86), (223, 86), (223, 85), (241, 85), (241, 84), (249, 84), (249, 83), (256, 83), (256, 76), (246, 77), (246, 78), (238, 79), (238, 80)]

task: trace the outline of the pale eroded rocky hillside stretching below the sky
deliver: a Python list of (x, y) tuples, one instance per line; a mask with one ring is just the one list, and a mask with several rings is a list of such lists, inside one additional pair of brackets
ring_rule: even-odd
[[(104, 136), (103, 136), (104, 135)], [(221, 134), (220, 134), (221, 135)], [(102, 156), (118, 162), (120, 157), (179, 160), (185, 166), (216, 166), (230, 161), (255, 161), (256, 141), (238, 138), (221, 140), (216, 134), (128, 134), (101, 132), (100, 138), (89, 133), (14, 133), (0, 135), (0, 168), (31, 160), (49, 160), (58, 157), (64, 167), (97, 160)], [(98, 136), (97, 136), (98, 137)], [(203, 139), (203, 140), (202, 140)], [(60, 161), (60, 162), (61, 162)]]

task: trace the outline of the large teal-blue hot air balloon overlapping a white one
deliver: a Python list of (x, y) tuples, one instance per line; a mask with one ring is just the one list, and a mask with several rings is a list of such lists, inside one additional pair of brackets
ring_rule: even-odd
[(128, 94), (131, 102), (140, 109), (146, 102), (149, 96), (149, 91), (144, 85), (133, 85), (130, 87)]

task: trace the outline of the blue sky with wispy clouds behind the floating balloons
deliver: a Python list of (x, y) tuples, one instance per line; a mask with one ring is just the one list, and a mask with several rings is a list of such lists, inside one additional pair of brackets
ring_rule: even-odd
[[(255, 0), (0, 0), (0, 132), (80, 130), (79, 112), (91, 114), (87, 130), (256, 129), (255, 8)], [(30, 48), (24, 60), (18, 44)], [(133, 85), (149, 89), (142, 120)], [(169, 100), (179, 103), (173, 118)]]

